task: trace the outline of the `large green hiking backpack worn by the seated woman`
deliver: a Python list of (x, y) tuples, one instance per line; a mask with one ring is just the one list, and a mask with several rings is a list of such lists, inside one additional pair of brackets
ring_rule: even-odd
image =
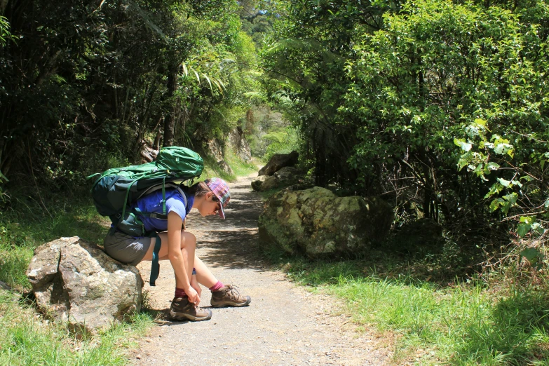
[[(172, 146), (162, 148), (156, 161), (152, 163), (112, 168), (88, 178), (99, 176), (92, 187), (93, 203), (97, 212), (102, 216), (108, 216), (116, 229), (130, 236), (156, 236), (156, 233), (144, 231), (137, 215), (168, 219), (165, 212), (166, 187), (179, 189), (183, 182), (200, 177), (203, 169), (204, 161), (196, 152), (185, 147)], [(163, 214), (127, 210), (128, 205), (135, 203), (138, 198), (160, 189), (163, 194)], [(156, 237), (151, 270), (153, 286), (154, 280), (158, 277), (158, 250), (161, 245), (161, 240)]]

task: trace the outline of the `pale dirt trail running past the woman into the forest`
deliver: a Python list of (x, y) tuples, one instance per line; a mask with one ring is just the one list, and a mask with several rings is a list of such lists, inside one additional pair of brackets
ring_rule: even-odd
[[(250, 189), (252, 180), (230, 184), (225, 220), (194, 211), (187, 219), (187, 229), (198, 238), (198, 256), (223, 283), (249, 294), (252, 303), (212, 309), (208, 321), (155, 327), (130, 356), (135, 365), (387, 365), (386, 341), (355, 332), (334, 299), (293, 285), (259, 258), (262, 201)], [(150, 263), (138, 268), (147, 282)], [(174, 287), (170, 264), (161, 262), (156, 287), (147, 283), (144, 290), (149, 290), (154, 309), (167, 313)], [(210, 307), (208, 289), (201, 299), (201, 306)]]

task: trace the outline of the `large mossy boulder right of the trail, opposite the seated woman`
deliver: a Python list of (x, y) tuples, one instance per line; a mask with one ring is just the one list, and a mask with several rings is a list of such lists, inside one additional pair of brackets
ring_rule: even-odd
[(353, 257), (383, 239), (392, 222), (391, 206), (377, 197), (337, 197), (320, 187), (280, 191), (259, 217), (259, 243), (312, 258)]

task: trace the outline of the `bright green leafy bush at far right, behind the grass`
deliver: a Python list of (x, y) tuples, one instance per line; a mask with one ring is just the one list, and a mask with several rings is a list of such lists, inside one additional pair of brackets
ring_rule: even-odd
[(448, 1), (415, 1), (385, 21), (347, 62), (340, 111), (363, 121), (351, 164), (364, 176), (398, 167), (396, 178), (423, 190), (423, 212), (446, 222), (543, 206), (543, 27), (520, 11)]

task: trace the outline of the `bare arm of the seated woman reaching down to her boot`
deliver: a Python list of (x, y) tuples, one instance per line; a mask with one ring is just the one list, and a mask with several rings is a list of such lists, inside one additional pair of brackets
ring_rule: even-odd
[(184, 243), (181, 238), (183, 220), (177, 213), (168, 213), (168, 259), (175, 272), (175, 287), (185, 290), (189, 301), (197, 303), (200, 297), (191, 286), (191, 273), (194, 267), (194, 243)]

